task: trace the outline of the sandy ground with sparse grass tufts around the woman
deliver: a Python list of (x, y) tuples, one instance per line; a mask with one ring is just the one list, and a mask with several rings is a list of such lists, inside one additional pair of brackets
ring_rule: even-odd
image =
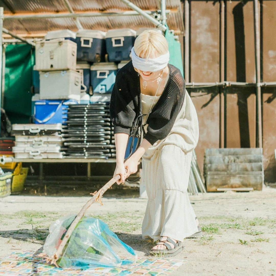
[[(78, 213), (88, 197), (18, 195), (0, 199), (0, 258), (43, 246), (49, 225)], [(174, 275), (276, 275), (276, 189), (262, 192), (207, 193), (190, 196), (204, 230), (185, 239), (184, 259)], [(147, 257), (152, 244), (142, 241), (147, 200), (120, 195), (103, 198), (88, 214), (105, 221), (137, 254)], [(181, 214), (180, 214), (181, 215)]]

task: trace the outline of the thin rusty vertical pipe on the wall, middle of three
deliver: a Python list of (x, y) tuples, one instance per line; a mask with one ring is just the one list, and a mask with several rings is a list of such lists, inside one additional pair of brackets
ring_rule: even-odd
[[(220, 38), (219, 38), (219, 49), (220, 49), (220, 81), (224, 81), (224, 0), (219, 2), (219, 20), (220, 20)], [(220, 120), (219, 120), (219, 146), (224, 148), (224, 88), (221, 87), (219, 91), (219, 100), (220, 100)]]

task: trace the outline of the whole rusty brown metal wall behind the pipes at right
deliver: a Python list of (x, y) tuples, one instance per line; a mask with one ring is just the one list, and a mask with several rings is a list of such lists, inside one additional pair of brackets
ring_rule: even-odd
[[(225, 80), (256, 81), (253, 1), (225, 1)], [(261, 81), (276, 81), (276, 0), (261, 0)], [(190, 82), (219, 81), (219, 1), (190, 1)], [(198, 113), (196, 149), (203, 173), (205, 148), (219, 147), (219, 94), (213, 88), (191, 91)], [(265, 181), (276, 182), (276, 88), (262, 89)], [(206, 104), (208, 103), (208, 104)], [(225, 89), (225, 147), (256, 147), (256, 88)]]

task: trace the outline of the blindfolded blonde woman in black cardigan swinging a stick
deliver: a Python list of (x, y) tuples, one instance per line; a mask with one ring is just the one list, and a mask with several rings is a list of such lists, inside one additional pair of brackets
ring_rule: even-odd
[[(151, 253), (174, 256), (186, 237), (198, 233), (190, 204), (192, 150), (198, 141), (197, 114), (185, 81), (169, 61), (168, 43), (157, 30), (144, 31), (135, 40), (132, 61), (118, 71), (110, 100), (114, 125), (117, 183), (137, 172), (142, 157), (142, 177), (148, 203), (142, 224), (143, 238), (159, 240)], [(150, 112), (151, 110), (151, 112)], [(143, 116), (145, 136), (124, 162), (132, 123)]]

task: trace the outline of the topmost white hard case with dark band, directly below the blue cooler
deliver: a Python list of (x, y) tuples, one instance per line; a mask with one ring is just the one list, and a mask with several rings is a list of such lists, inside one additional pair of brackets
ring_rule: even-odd
[(39, 136), (61, 134), (62, 124), (13, 124), (12, 136)]

